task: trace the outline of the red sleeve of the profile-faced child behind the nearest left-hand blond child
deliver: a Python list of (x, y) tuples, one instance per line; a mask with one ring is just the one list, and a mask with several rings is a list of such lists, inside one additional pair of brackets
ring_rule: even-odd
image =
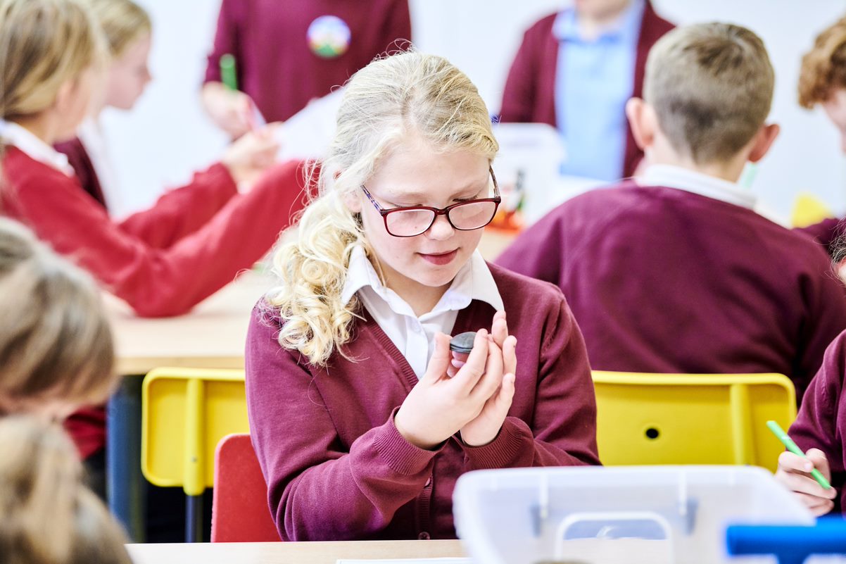
[(194, 174), (188, 185), (163, 194), (150, 209), (133, 213), (120, 227), (149, 246), (168, 248), (200, 229), (236, 194), (232, 174), (216, 163)]

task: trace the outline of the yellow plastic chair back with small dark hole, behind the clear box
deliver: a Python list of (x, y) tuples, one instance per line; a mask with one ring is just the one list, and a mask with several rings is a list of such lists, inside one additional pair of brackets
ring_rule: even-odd
[(774, 471), (784, 446), (766, 428), (796, 418), (782, 374), (593, 372), (596, 440), (607, 466), (751, 464)]

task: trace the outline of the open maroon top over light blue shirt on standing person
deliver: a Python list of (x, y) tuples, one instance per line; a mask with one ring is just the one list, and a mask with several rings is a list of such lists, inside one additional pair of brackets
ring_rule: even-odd
[[(558, 39), (552, 34), (552, 25), (558, 14), (550, 14), (532, 25), (523, 36), (514, 63), (508, 71), (503, 91), (500, 119), (503, 122), (550, 124), (558, 127), (555, 117), (555, 76), (558, 73)], [(634, 59), (634, 85), (632, 96), (640, 97), (646, 55), (652, 45), (673, 24), (658, 17), (649, 0), (646, 0)], [(626, 120), (626, 149), (623, 175), (631, 176), (643, 152), (634, 143), (629, 122)]]

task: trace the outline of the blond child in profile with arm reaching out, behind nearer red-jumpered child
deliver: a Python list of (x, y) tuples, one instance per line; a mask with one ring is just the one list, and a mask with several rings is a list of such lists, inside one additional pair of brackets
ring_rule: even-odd
[[(68, 156), (83, 189), (107, 208), (112, 217), (126, 218), (127, 194), (118, 185), (113, 161), (100, 124), (104, 108), (131, 110), (151, 81), (147, 59), (150, 56), (152, 23), (144, 8), (132, 0), (85, 0), (106, 36), (108, 61), (105, 79), (96, 93), (91, 118), (77, 130), (78, 135), (57, 144)], [(168, 128), (163, 128), (167, 131)], [(223, 153), (220, 162), (194, 175), (190, 184), (165, 193), (155, 204), (155, 213), (140, 213), (131, 220), (135, 232), (149, 233), (167, 246), (181, 235), (199, 229), (240, 191), (252, 183), (274, 161), (277, 144), (272, 127), (244, 135)], [(237, 186), (238, 190), (234, 188)], [(162, 226), (162, 216), (181, 218), (184, 231), (176, 233)], [(159, 238), (156, 238), (156, 235)]]

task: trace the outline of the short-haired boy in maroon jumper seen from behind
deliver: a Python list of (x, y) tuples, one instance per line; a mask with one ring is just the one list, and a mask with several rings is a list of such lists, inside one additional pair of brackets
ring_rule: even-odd
[(564, 202), (497, 263), (558, 284), (593, 368), (784, 373), (801, 397), (846, 328), (826, 253), (755, 213), (737, 184), (778, 133), (773, 71), (738, 25), (673, 30), (627, 114), (642, 178)]

